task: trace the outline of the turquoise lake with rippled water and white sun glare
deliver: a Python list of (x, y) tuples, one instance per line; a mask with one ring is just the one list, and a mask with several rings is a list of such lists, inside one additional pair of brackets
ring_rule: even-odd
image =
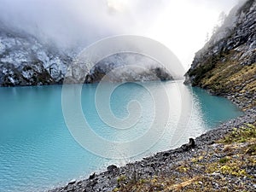
[[(161, 85), (160, 85), (161, 84)], [(178, 86), (177, 86), (178, 84)], [(126, 83), (115, 89), (108, 100), (105, 83), (101, 92), (102, 103), (109, 103), (113, 115), (125, 119), (129, 115), (127, 104), (137, 100), (140, 119), (129, 129), (114, 129), (98, 115), (96, 88), (98, 84), (84, 84), (81, 91), (81, 108), (90, 128), (108, 141), (121, 143), (140, 139), (152, 125), (156, 103), (151, 92), (160, 92), (164, 86), (169, 103), (157, 106), (160, 117), (170, 112), (166, 129), (161, 137), (143, 153), (131, 155), (142, 146), (100, 148), (99, 154), (119, 154), (109, 159), (86, 150), (72, 136), (63, 112), (61, 85), (0, 88), (0, 191), (45, 191), (66, 184), (72, 179), (86, 178), (91, 172), (106, 170), (110, 164), (125, 165), (156, 152), (177, 148), (188, 143), (189, 137), (198, 137), (221, 122), (236, 118), (241, 111), (229, 100), (211, 96), (200, 88), (189, 88), (182, 82)], [(144, 85), (148, 88), (145, 89)], [(82, 85), (68, 85), (67, 92), (74, 95)], [(105, 90), (106, 89), (106, 90)], [(189, 107), (183, 111), (182, 96), (188, 98)], [(161, 100), (161, 98), (160, 98)], [(63, 101), (62, 101), (63, 102)], [(79, 102), (70, 100), (70, 104)], [(130, 111), (132, 113), (132, 111)], [(181, 115), (186, 113), (186, 115)], [(76, 114), (74, 113), (74, 119)], [(182, 119), (181, 119), (182, 118)], [(176, 130), (180, 123), (180, 131)], [(156, 124), (157, 125), (157, 124)], [(88, 138), (90, 139), (90, 138)], [(154, 135), (148, 139), (154, 140)], [(143, 145), (143, 143), (141, 143)], [(100, 145), (90, 141), (90, 147)], [(147, 147), (148, 143), (145, 143)], [(113, 145), (114, 146), (114, 145)], [(104, 152), (104, 153), (103, 153)]]

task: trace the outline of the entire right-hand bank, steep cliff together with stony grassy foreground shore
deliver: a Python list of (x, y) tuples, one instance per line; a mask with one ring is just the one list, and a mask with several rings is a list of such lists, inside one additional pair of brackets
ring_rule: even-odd
[(255, 191), (255, 18), (255, 0), (237, 5), (185, 74), (185, 83), (225, 96), (244, 115), (196, 137), (195, 146), (190, 140), (50, 191)]

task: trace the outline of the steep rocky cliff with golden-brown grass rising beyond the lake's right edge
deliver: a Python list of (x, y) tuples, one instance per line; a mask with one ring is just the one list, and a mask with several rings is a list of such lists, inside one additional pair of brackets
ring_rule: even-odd
[(256, 1), (230, 11), (223, 26), (195, 54), (187, 84), (227, 96), (241, 108), (256, 106)]

